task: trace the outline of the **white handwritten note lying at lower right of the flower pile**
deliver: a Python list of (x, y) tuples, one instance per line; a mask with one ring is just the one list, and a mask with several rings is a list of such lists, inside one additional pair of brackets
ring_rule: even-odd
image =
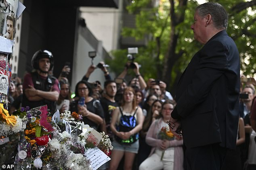
[(91, 162), (92, 170), (97, 170), (100, 166), (111, 160), (103, 151), (97, 147), (88, 149), (85, 155), (86, 158), (88, 158), (88, 160)]

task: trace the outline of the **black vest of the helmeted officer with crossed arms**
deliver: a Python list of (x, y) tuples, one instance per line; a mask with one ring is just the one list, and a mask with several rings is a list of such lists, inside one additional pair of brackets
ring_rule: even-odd
[[(56, 78), (48, 75), (46, 79), (42, 79), (37, 72), (31, 73), (34, 88), (41, 91), (50, 91), (51, 87), (54, 85)], [(29, 108), (35, 108), (38, 106), (47, 105), (51, 114), (56, 112), (56, 102), (50, 100), (40, 100), (40, 101), (29, 101), (26, 95), (23, 95), (22, 107), (29, 106)]]

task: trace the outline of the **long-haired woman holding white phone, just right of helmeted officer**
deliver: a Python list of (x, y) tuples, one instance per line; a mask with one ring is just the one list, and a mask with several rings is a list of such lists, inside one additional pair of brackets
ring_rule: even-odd
[(71, 91), (69, 83), (66, 79), (61, 79), (60, 83), (60, 95), (57, 100), (56, 108), (63, 113), (65, 110), (69, 110), (69, 102), (71, 100)]

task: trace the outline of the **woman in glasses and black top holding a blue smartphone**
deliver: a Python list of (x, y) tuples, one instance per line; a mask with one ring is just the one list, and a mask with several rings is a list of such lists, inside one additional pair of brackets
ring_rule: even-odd
[(78, 99), (71, 102), (70, 111), (82, 115), (84, 124), (97, 130), (99, 125), (103, 123), (104, 112), (99, 100), (92, 98), (92, 93), (92, 88), (87, 81), (79, 81), (75, 88)]

